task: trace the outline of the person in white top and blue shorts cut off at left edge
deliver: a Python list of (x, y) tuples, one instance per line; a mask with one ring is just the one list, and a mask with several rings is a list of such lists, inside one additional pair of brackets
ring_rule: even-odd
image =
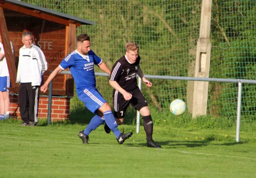
[[(12, 53), (14, 53), (12, 42), (10, 43)], [(11, 82), (6, 58), (4, 56), (4, 46), (0, 36), (0, 120), (9, 117), (10, 98), (8, 87), (11, 87)]]

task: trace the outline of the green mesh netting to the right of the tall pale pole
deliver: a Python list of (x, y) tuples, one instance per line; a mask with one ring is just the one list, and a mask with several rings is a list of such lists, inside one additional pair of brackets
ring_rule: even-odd
[[(213, 0), (211, 19), (210, 77), (255, 80), (256, 1)], [(244, 84), (242, 120), (255, 120), (255, 85)], [(237, 84), (211, 83), (209, 110), (217, 115), (235, 117)]]

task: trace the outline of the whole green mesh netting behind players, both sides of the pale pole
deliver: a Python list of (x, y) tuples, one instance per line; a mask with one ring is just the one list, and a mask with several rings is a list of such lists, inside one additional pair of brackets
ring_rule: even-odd
[[(23, 0), (41, 7), (95, 21), (78, 27), (77, 34), (91, 36), (91, 49), (111, 68), (125, 53), (125, 43), (140, 46), (141, 69), (148, 75), (194, 77), (199, 37), (201, 3), (194, 0)], [(213, 0), (211, 16), (210, 77), (255, 79), (256, 2)], [(96, 72), (101, 72), (95, 68)], [(96, 77), (97, 88), (112, 103), (107, 77)], [(149, 105), (169, 111), (174, 99), (186, 101), (191, 113), (190, 82), (151, 80), (142, 87)], [(191, 96), (191, 93), (190, 93)], [(242, 119), (255, 113), (255, 85), (246, 84), (242, 93)], [(78, 98), (72, 99), (73, 108)], [(209, 83), (207, 113), (236, 117), (237, 84)]]

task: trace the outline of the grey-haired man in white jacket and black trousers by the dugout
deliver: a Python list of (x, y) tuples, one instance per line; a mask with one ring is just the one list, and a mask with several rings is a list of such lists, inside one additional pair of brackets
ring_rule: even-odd
[(22, 124), (36, 126), (38, 119), (39, 87), (43, 73), (47, 70), (47, 61), (42, 50), (33, 44), (31, 32), (22, 35), (24, 46), (20, 49), (16, 83), (20, 83), (19, 105)]

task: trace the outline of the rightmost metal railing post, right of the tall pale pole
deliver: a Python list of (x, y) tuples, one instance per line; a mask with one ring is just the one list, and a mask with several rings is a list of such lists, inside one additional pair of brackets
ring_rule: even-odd
[(239, 138), (240, 138), (241, 102), (242, 102), (242, 83), (239, 81), (238, 94), (237, 94), (237, 115), (236, 115), (236, 133), (235, 133), (236, 142), (239, 142)]

